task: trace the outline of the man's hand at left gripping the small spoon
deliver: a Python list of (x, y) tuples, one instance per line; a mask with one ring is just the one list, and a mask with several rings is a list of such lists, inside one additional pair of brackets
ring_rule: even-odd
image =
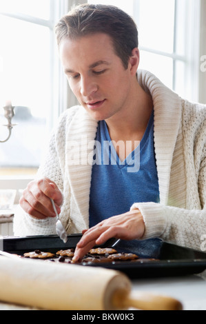
[(25, 212), (37, 219), (55, 217), (56, 214), (50, 199), (54, 200), (56, 211), (61, 212), (63, 196), (56, 183), (48, 178), (31, 181), (23, 191), (19, 204)]

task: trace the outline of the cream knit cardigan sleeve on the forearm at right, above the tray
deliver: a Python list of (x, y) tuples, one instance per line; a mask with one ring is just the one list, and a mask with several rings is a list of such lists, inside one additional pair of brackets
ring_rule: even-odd
[(159, 237), (164, 241), (203, 250), (206, 237), (206, 156), (201, 163), (198, 177), (201, 210), (162, 205), (159, 203), (134, 203), (145, 221), (143, 239)]

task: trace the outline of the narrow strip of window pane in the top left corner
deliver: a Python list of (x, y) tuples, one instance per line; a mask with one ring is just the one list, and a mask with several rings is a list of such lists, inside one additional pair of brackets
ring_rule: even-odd
[(21, 12), (50, 19), (50, 0), (0, 0), (0, 12)]

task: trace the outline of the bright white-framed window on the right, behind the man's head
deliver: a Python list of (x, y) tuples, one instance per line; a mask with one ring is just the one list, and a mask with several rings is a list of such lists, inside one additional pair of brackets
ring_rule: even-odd
[(199, 84), (200, 0), (88, 2), (119, 6), (134, 17), (141, 52), (139, 68), (154, 73), (182, 97), (203, 101), (203, 85)]

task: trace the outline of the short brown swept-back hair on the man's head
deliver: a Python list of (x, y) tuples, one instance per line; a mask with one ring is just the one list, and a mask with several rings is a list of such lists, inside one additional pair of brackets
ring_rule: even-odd
[(132, 17), (115, 6), (83, 4), (76, 6), (56, 25), (58, 45), (65, 37), (76, 39), (103, 32), (113, 41), (116, 55), (127, 69), (132, 50), (138, 48), (138, 30)]

